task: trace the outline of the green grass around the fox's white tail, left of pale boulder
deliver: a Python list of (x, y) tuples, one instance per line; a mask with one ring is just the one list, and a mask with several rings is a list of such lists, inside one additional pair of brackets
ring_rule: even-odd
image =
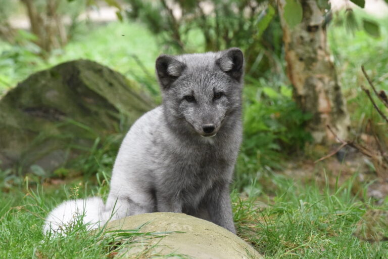
[[(37, 191), (38, 189), (27, 191), (26, 194), (20, 190), (14, 191), (6, 194), (6, 199), (0, 202), (0, 258), (119, 258), (120, 256), (115, 255), (120, 249), (134, 245), (134, 238), (160, 236), (160, 233), (143, 233), (140, 228), (117, 232), (105, 229), (89, 232), (80, 222), (67, 229), (66, 235), (44, 235), (42, 223), (47, 211), (61, 200), (61, 195), (62, 198), (66, 196), (65, 190), (79, 189), (73, 186), (59, 193), (41, 189)], [(20, 203), (24, 205), (17, 206)], [(138, 253), (139, 258), (151, 255), (151, 248), (144, 247)], [(185, 258), (179, 254), (172, 255), (174, 258)], [(165, 257), (171, 256), (148, 258)]]

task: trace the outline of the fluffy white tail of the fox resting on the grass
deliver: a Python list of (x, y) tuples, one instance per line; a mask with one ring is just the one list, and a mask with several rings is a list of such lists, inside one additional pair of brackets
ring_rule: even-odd
[(49, 234), (64, 234), (77, 223), (87, 225), (87, 229), (103, 226), (106, 218), (104, 201), (99, 197), (68, 200), (56, 207), (47, 216), (43, 232)]

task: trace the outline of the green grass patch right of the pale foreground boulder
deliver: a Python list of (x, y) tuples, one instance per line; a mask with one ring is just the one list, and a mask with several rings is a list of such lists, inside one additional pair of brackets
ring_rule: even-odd
[(386, 242), (368, 243), (354, 235), (356, 223), (373, 205), (352, 195), (353, 181), (322, 190), (276, 176), (276, 195), (267, 206), (255, 196), (237, 202), (238, 232), (266, 258), (387, 258)]

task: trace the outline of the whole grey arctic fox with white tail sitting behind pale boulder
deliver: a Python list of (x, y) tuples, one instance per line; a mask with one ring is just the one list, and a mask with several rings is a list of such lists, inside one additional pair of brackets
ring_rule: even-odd
[(241, 142), (243, 53), (161, 55), (156, 72), (163, 104), (130, 128), (117, 155), (108, 200), (65, 201), (44, 232), (75, 217), (96, 228), (147, 212), (183, 212), (235, 233), (229, 184)]

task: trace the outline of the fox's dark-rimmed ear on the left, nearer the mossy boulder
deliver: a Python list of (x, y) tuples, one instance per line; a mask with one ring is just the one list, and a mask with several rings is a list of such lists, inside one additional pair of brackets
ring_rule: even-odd
[(173, 56), (160, 55), (156, 59), (156, 74), (158, 76), (162, 89), (170, 87), (181, 74), (185, 65)]

